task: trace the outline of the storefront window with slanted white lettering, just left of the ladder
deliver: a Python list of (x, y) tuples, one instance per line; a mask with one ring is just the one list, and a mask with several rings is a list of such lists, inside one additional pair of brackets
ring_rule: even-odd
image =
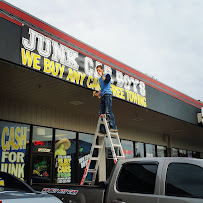
[[(85, 133), (79, 133), (79, 180), (82, 180), (84, 169), (87, 165), (88, 155), (92, 147), (94, 136)], [(86, 180), (91, 179), (92, 174), (88, 173)]]

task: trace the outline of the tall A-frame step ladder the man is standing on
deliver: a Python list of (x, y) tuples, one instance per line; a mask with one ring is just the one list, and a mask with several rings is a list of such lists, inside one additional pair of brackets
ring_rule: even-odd
[[(106, 134), (99, 133), (101, 124), (104, 124)], [(83, 174), (82, 180), (80, 182), (80, 185), (83, 185), (84, 183), (89, 184), (89, 185), (93, 185), (95, 183), (97, 171), (99, 168), (99, 161), (101, 159), (102, 152), (105, 148), (104, 147), (105, 137), (107, 137), (109, 140), (114, 163), (116, 164), (119, 159), (125, 159), (125, 155), (123, 153), (123, 148), (121, 146), (118, 132), (110, 132), (109, 131), (109, 126), (108, 126), (106, 114), (101, 114), (99, 116), (99, 119), (98, 119), (94, 140), (92, 143), (92, 147), (91, 147), (90, 154), (88, 157), (87, 165), (86, 165), (86, 168), (84, 170), (84, 174)], [(98, 138), (100, 138), (100, 140), (98, 140)], [(112, 138), (116, 139), (116, 144), (113, 143)], [(98, 141), (100, 141), (100, 144), (98, 144)], [(98, 150), (97, 156), (93, 156), (95, 149)], [(92, 161), (95, 161), (94, 168), (90, 168), (90, 164), (92, 163)], [(85, 180), (88, 173), (92, 174), (92, 180), (91, 181)]]

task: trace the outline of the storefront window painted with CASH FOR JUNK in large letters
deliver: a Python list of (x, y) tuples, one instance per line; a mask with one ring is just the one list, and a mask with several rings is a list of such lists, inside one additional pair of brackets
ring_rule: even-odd
[(22, 180), (27, 180), (30, 126), (0, 122), (0, 168)]

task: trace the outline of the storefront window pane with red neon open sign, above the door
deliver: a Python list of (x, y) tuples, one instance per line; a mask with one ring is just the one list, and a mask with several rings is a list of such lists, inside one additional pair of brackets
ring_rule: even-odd
[(33, 127), (32, 151), (51, 152), (52, 151), (53, 130), (39, 126)]

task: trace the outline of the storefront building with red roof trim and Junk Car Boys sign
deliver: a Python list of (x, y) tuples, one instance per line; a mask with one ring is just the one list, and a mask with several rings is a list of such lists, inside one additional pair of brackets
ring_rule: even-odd
[[(202, 102), (0, 5), (1, 171), (29, 184), (80, 182), (98, 120), (98, 64), (112, 77), (126, 158), (203, 158)], [(108, 141), (100, 165), (98, 180), (106, 180), (113, 166)]]

